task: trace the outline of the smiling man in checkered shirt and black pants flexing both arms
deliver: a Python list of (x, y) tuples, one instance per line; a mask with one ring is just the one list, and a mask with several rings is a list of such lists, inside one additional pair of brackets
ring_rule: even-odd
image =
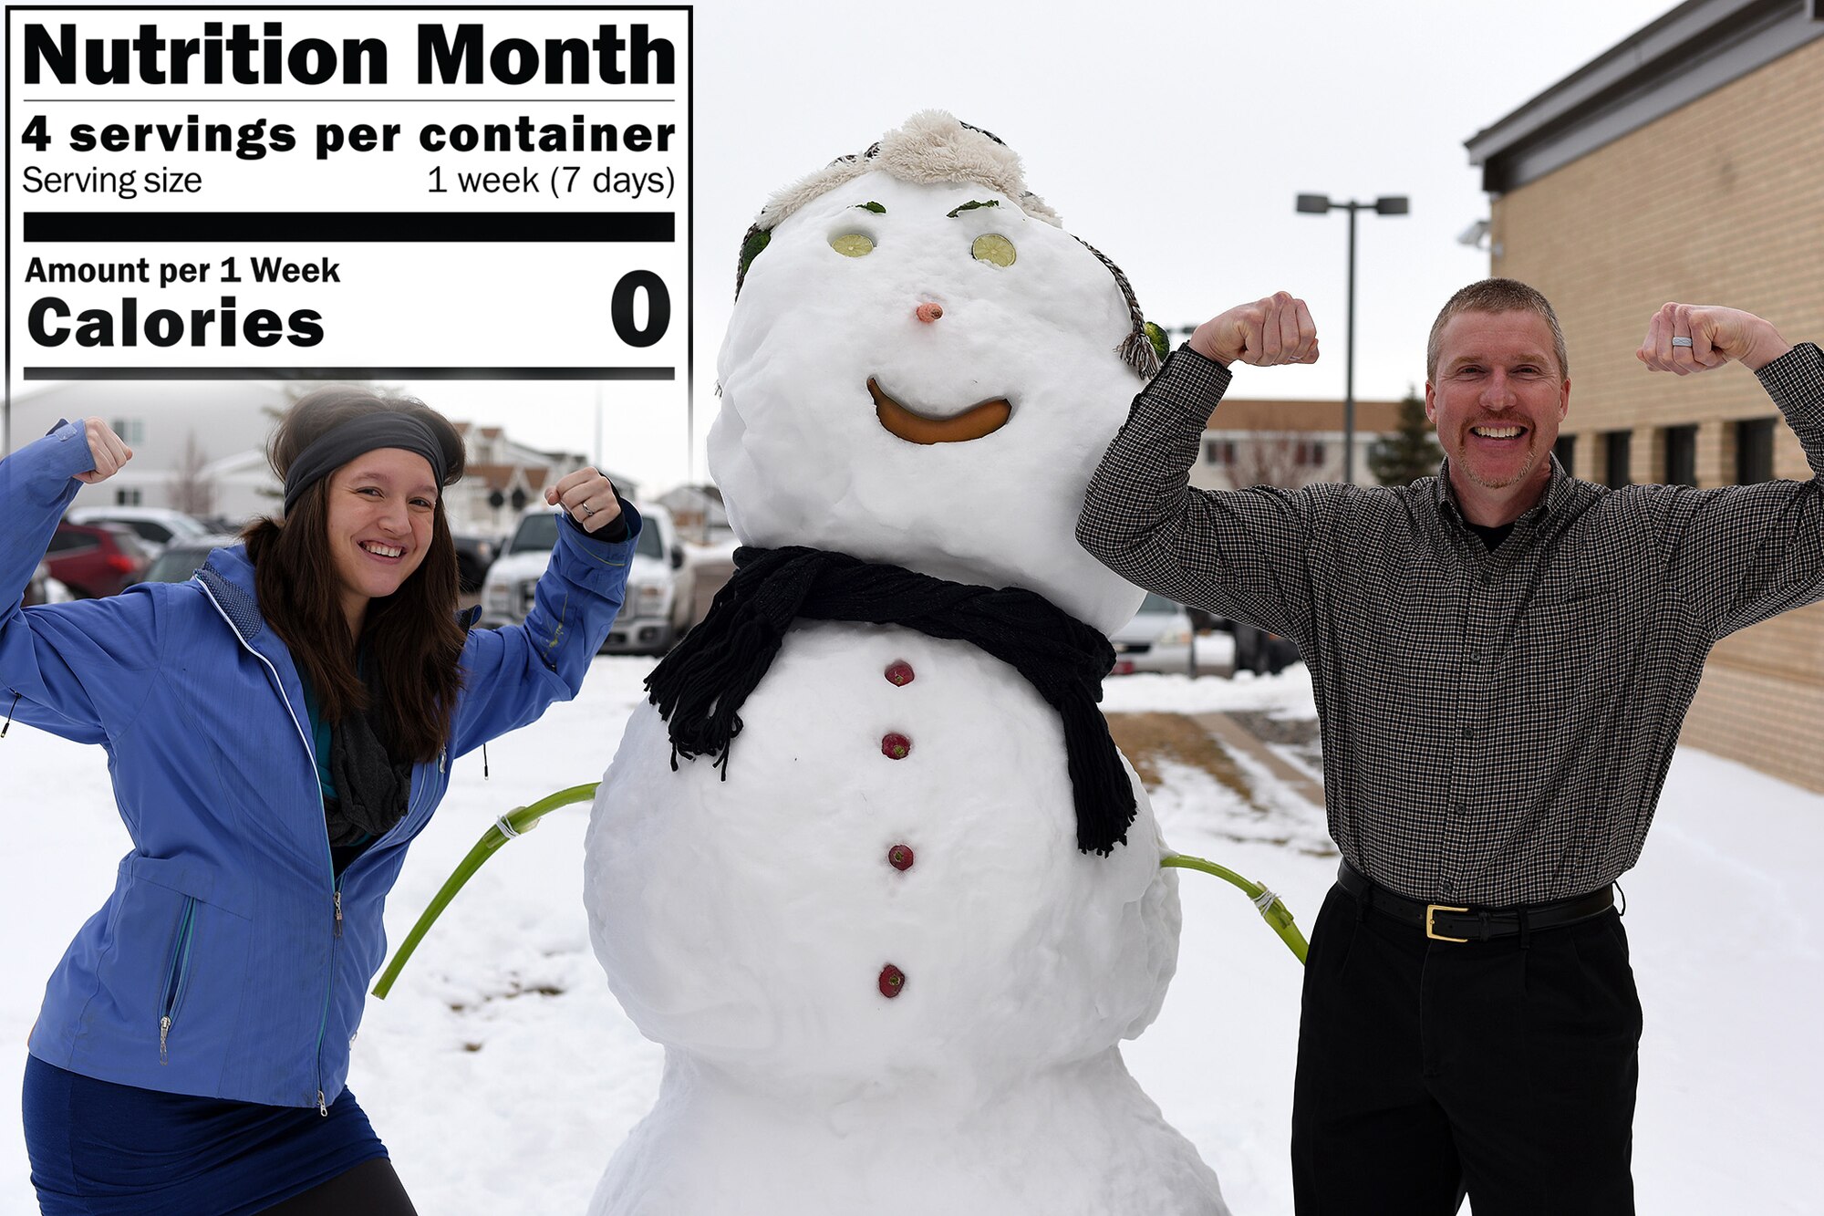
[(1722, 635), (1824, 597), (1824, 354), (1665, 305), (1636, 352), (1738, 362), (1815, 477), (1607, 489), (1552, 458), (1550, 305), (1512, 279), (1432, 327), (1446, 460), (1406, 487), (1186, 486), (1235, 362), (1308, 363), (1286, 294), (1204, 323), (1135, 400), (1078, 539), (1162, 595), (1293, 637), (1342, 871), (1311, 931), (1293, 1095), (1302, 1216), (1632, 1212), (1640, 1004), (1612, 884), (1640, 856)]

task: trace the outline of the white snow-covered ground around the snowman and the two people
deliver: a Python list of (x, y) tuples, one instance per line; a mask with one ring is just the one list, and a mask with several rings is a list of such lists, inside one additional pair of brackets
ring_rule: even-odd
[[(600, 776), (648, 670), (648, 659), (596, 659), (582, 697), (489, 747), (491, 780), (480, 756), (458, 765), (394, 891), (394, 940), (494, 816)], [(1111, 679), (1105, 708), (1313, 712), (1302, 666), (1233, 683)], [(1202, 770), (1169, 769), (1155, 792), (1160, 823), (1176, 849), (1268, 882), (1310, 926), (1335, 869), (1322, 811), (1266, 772), (1249, 776), (1264, 811)], [(13, 926), (0, 1039), (15, 1044), (18, 1068), (42, 980), (106, 896), (128, 842), (98, 749), (15, 723), (0, 741), (0, 789)], [(352, 1090), (427, 1216), (582, 1212), (658, 1090), (660, 1050), (629, 1026), (589, 951), (586, 816), (560, 811), (502, 849), (392, 997), (368, 1002)], [(1824, 1048), (1806, 1026), (1824, 1004), (1820, 856), (1824, 798), (1678, 754), (1645, 858), (1625, 880), (1647, 1012), (1642, 1212), (1819, 1211)], [(1160, 1021), (1125, 1046), (1129, 1066), (1215, 1167), (1237, 1216), (1290, 1212), (1299, 966), (1233, 887), (1186, 873), (1180, 889), (1178, 979)], [(35, 1211), (11, 1127), (0, 1132), (0, 1216)]]

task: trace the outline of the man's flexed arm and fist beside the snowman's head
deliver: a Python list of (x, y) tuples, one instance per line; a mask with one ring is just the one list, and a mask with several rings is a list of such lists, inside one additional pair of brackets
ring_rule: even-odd
[(1135, 398), (1089, 484), (1076, 537), (1122, 577), (1297, 635), (1310, 517), (1322, 491), (1202, 491), (1187, 484), (1229, 363), (1311, 363), (1317, 327), (1279, 292), (1206, 321)]

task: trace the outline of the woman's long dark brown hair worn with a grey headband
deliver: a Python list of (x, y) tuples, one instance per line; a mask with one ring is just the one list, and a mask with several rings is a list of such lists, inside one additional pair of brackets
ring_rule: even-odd
[[(328, 385), (286, 411), (266, 458), (285, 482), (299, 453), (332, 427), (370, 413), (396, 411), (425, 424), (443, 449), (443, 486), (463, 475), (463, 442), (449, 418), (409, 396), (376, 396), (354, 385)], [(368, 603), (359, 646), (348, 637), (336, 559), (328, 544), (328, 478), (303, 491), (283, 520), (259, 519), (241, 533), (254, 562), (254, 588), (266, 624), (316, 692), (326, 721), (368, 708), (356, 668), (358, 650), (376, 677), (385, 712), (381, 738), (401, 760), (432, 760), (451, 738), (461, 690), (463, 628), (456, 623), (456, 542), (438, 495), (425, 561), (399, 590)]]

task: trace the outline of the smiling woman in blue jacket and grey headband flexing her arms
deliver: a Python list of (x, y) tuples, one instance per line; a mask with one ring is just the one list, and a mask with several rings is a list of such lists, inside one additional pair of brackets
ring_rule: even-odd
[(182, 584), (20, 608), (82, 482), (131, 451), (62, 424), (0, 460), (0, 703), (109, 750), (133, 836), (46, 988), (33, 1185), (60, 1212), (412, 1212), (343, 1088), (381, 906), (449, 760), (575, 696), (620, 608), (635, 509), (595, 469), (525, 624), (465, 632), (438, 413), (332, 387), (272, 440), (277, 520)]

